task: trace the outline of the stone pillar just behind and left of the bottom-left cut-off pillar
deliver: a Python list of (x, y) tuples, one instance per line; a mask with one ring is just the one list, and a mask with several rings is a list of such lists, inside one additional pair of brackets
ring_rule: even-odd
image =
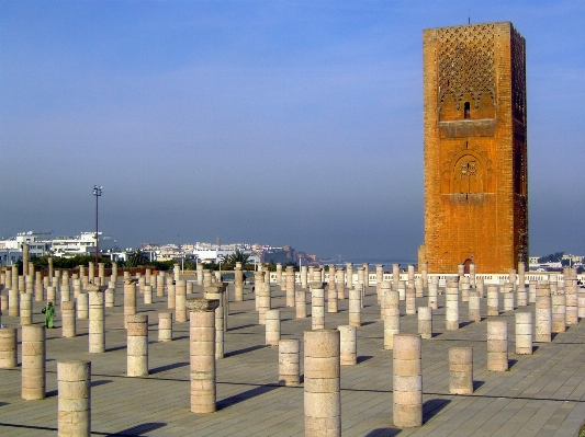
[(22, 326), (22, 399), (45, 399), (45, 326)]

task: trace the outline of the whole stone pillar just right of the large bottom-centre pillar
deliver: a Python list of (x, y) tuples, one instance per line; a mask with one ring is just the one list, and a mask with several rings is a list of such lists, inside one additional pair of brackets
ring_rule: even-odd
[(394, 426), (400, 428), (423, 425), (423, 366), (420, 335), (394, 336), (392, 358)]

